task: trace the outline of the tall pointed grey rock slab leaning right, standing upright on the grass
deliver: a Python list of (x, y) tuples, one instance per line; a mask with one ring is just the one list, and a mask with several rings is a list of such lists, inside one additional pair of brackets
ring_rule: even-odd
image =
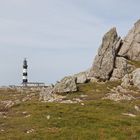
[(99, 48), (98, 55), (95, 57), (89, 77), (109, 80), (120, 46), (121, 39), (117, 35), (116, 28), (112, 28), (103, 37), (102, 45)]

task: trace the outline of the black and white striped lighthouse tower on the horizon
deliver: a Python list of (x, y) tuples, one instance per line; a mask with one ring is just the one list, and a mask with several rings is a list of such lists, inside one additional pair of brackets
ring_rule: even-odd
[(27, 68), (28, 68), (28, 65), (27, 65), (27, 60), (26, 60), (26, 58), (25, 58), (24, 61), (23, 61), (23, 78), (22, 78), (22, 84), (23, 84), (24, 86), (26, 86), (27, 83), (28, 83)]

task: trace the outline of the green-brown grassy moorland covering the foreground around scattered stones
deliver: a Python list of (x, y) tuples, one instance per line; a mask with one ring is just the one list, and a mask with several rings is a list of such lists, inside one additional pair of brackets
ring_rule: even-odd
[[(67, 98), (82, 98), (82, 104), (41, 103), (36, 95), (0, 115), (0, 140), (140, 140), (140, 113), (134, 109), (140, 100), (101, 100), (118, 84), (79, 85), (79, 92)], [(0, 101), (15, 95), (20, 98), (24, 93), (1, 90)]]

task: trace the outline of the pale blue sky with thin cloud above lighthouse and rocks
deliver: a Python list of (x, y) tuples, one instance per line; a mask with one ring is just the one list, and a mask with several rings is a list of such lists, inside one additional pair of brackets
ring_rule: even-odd
[(0, 86), (55, 83), (89, 69), (102, 37), (124, 37), (140, 18), (139, 0), (0, 0)]

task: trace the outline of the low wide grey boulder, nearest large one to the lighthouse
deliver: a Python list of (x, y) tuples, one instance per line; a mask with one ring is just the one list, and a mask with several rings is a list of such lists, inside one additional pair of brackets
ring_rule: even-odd
[(59, 83), (54, 86), (54, 93), (68, 93), (77, 91), (76, 78), (69, 76), (63, 78)]

